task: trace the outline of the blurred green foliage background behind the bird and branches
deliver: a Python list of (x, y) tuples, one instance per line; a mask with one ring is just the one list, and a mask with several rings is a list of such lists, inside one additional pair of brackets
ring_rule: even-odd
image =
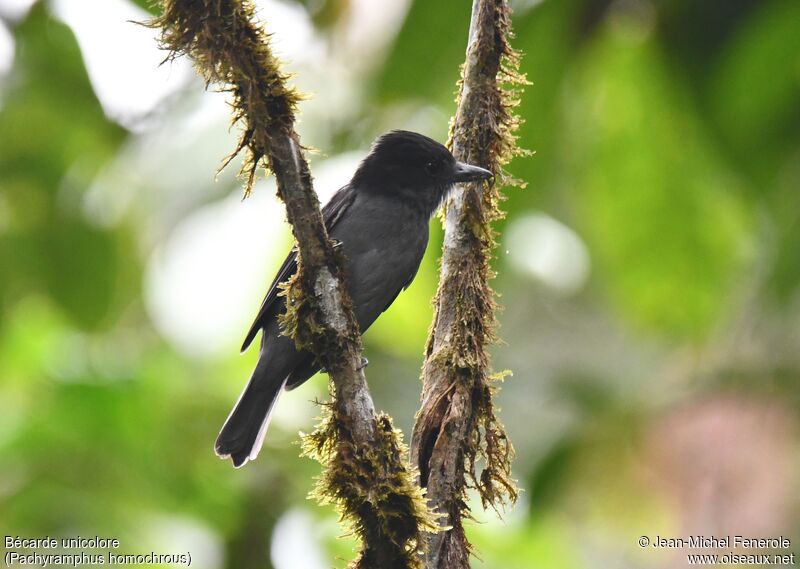
[[(205, 544), (202, 567), (248, 568), (280, 565), (273, 530), (290, 543), (287, 520), (307, 516), (291, 526), (301, 528), (295, 547), (321, 548), (343, 566), (351, 544), (331, 511), (305, 500), (317, 465), (296, 444), (324, 379), (282, 399), (259, 460), (234, 471), (212, 442), (254, 354), (236, 357), (238, 337), (224, 353), (186, 353), (146, 299), (175, 227), (238, 185), (230, 176), (215, 185), (218, 162), (193, 159), (164, 166), (158, 184), (148, 179), (142, 164), (159, 164), (163, 148), (152, 132), (169, 131), (192, 157), (202, 141), (163, 117), (150, 135), (109, 119), (56, 4), (36, 2), (6, 22), (15, 57), (0, 76), (0, 528), (110, 535), (130, 552)], [(335, 53), (356, 4), (292, 6)], [(537, 243), (498, 252), (505, 343), (495, 364), (514, 371), (499, 402), (528, 492), (505, 525), (476, 504), (486, 523), (469, 528), (475, 565), (660, 567), (670, 560), (640, 551), (638, 536), (797, 536), (800, 478), (784, 459), (800, 441), (800, 3), (515, 7), (514, 45), (533, 83), (520, 142), (536, 154), (512, 164), (528, 188), (510, 193), (499, 229), (531, 213), (559, 220), (590, 268), (577, 292), (558, 290), (513, 262)], [(419, 116), (443, 136), (468, 22), (468, 3), (411, 1), (376, 61), (343, 76), (358, 83), (357, 108), (301, 124), (312, 137), (328, 133), (322, 161), (363, 152), (387, 124), (419, 125)], [(163, 115), (181, 116), (201, 90), (183, 86)], [(87, 213), (103, 176), (112, 200), (135, 188), (139, 207), (112, 222)], [(366, 339), (377, 404), (406, 432), (436, 288), (433, 223), (414, 286)], [(275, 259), (287, 246), (276, 241)], [(258, 300), (247, 299), (253, 309)], [(764, 418), (759, 428), (737, 421), (749, 414)], [(703, 485), (715, 499), (693, 499)], [(755, 508), (742, 527), (722, 503), (780, 507)]]

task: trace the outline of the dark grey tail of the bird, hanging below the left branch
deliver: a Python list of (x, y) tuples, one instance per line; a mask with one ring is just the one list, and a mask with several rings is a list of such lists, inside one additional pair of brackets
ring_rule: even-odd
[(266, 376), (264, 359), (261, 358), (253, 370), (214, 445), (217, 455), (230, 457), (236, 468), (254, 459), (261, 450), (272, 408), (286, 383), (285, 378), (276, 381)]

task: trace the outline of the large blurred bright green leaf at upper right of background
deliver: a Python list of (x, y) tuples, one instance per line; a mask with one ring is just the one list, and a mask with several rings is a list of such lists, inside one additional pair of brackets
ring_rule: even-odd
[(639, 26), (607, 24), (571, 85), (572, 201), (617, 310), (702, 340), (742, 278), (750, 219), (740, 184)]

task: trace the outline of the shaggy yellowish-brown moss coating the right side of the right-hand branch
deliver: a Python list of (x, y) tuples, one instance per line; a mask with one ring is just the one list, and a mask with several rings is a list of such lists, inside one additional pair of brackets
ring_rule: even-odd
[[(489, 4), (489, 3), (487, 3)], [(480, 17), (478, 42), (494, 44), (488, 52), (499, 58), (495, 81), (479, 85), (479, 91), (471, 106), (477, 112), (467, 112), (462, 104), (463, 69), (459, 81), (456, 105), (459, 113), (450, 125), (451, 147), (460, 146), (469, 159), (475, 160), (495, 172), (494, 183), (477, 185), (477, 191), (470, 192), (465, 207), (461, 210), (459, 223), (469, 228), (472, 236), (471, 255), (463, 257), (457, 270), (450, 274), (455, 282), (452, 288), (457, 294), (454, 318), (456, 330), (452, 346), (455, 353), (447, 357), (443, 354), (455, 377), (467, 381), (472, 387), (472, 404), (475, 425), (469, 444), (465, 447), (466, 473), (472, 485), (477, 488), (484, 507), (495, 509), (506, 502), (514, 502), (518, 490), (511, 477), (511, 461), (514, 449), (505, 428), (497, 418), (493, 395), (497, 383), (510, 372), (491, 373), (491, 362), (486, 346), (497, 341), (495, 301), (496, 294), (489, 286), (494, 278), (490, 261), (496, 248), (496, 233), (492, 222), (504, 217), (500, 203), (505, 199), (501, 188), (508, 186), (525, 187), (525, 183), (513, 178), (505, 166), (517, 156), (531, 153), (517, 144), (516, 132), (521, 119), (514, 109), (524, 86), (529, 85), (526, 77), (519, 71), (520, 54), (511, 47), (512, 37), (509, 9), (505, 2), (492, 3), (491, 17)], [(474, 49), (480, 50), (480, 46)], [(483, 61), (491, 65), (491, 61)], [(475, 87), (471, 87), (471, 91)], [(457, 144), (456, 138), (460, 144)], [(470, 201), (470, 199), (472, 201)], [(480, 200), (476, 203), (476, 200)], [(442, 283), (440, 291), (447, 285)], [(483, 470), (478, 473), (479, 458), (484, 459)]]

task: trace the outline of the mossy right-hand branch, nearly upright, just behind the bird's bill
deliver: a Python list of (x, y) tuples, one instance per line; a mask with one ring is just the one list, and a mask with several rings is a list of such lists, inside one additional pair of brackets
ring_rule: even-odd
[[(477, 488), (484, 507), (515, 501), (513, 448), (498, 421), (496, 380), (487, 346), (495, 341), (495, 295), (489, 286), (495, 235), (502, 216), (499, 186), (516, 184), (503, 167), (525, 154), (516, 145), (513, 109), (527, 82), (510, 44), (504, 0), (474, 0), (467, 59), (451, 122), (454, 156), (490, 169), (495, 183), (470, 183), (447, 203), (436, 313), (423, 366), (423, 401), (412, 438), (412, 459), (434, 510), (451, 529), (429, 534), (426, 567), (469, 567), (462, 519), (466, 491)], [(479, 459), (485, 466), (478, 473)]]

